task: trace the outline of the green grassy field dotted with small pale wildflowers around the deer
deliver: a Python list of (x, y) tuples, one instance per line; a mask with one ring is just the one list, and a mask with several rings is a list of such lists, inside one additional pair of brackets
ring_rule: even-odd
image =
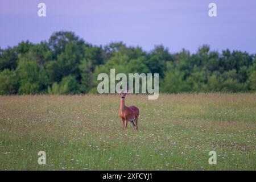
[(139, 131), (122, 131), (118, 95), (0, 96), (0, 169), (256, 170), (255, 94), (129, 95), (126, 105), (139, 107)]

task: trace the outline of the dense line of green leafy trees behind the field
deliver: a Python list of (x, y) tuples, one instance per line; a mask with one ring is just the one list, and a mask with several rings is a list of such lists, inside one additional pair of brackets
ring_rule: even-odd
[(0, 48), (0, 94), (97, 93), (97, 75), (159, 73), (162, 93), (255, 92), (256, 54), (207, 45), (196, 53), (150, 52), (122, 42), (106, 46), (86, 43), (73, 32), (59, 31), (48, 41)]

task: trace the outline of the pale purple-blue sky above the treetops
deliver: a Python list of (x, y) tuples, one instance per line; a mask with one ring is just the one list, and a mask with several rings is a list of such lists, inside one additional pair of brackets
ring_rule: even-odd
[[(37, 14), (40, 2), (46, 17)], [(217, 17), (208, 16), (210, 2)], [(67, 30), (96, 45), (123, 41), (146, 51), (163, 44), (170, 52), (195, 52), (209, 44), (256, 53), (255, 9), (255, 0), (1, 0), (0, 47), (39, 43)]]

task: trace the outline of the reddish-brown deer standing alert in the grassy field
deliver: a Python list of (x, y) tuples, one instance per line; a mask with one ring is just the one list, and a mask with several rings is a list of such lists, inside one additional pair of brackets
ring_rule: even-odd
[[(127, 92), (128, 91), (128, 92)], [(127, 129), (127, 122), (130, 121), (131, 125), (133, 125), (134, 130), (138, 130), (138, 117), (139, 117), (139, 109), (136, 106), (125, 106), (125, 97), (129, 90), (125, 92), (121, 92), (118, 90), (120, 99), (120, 107), (119, 107), (119, 117), (123, 122), (123, 130), (126, 131)]]

